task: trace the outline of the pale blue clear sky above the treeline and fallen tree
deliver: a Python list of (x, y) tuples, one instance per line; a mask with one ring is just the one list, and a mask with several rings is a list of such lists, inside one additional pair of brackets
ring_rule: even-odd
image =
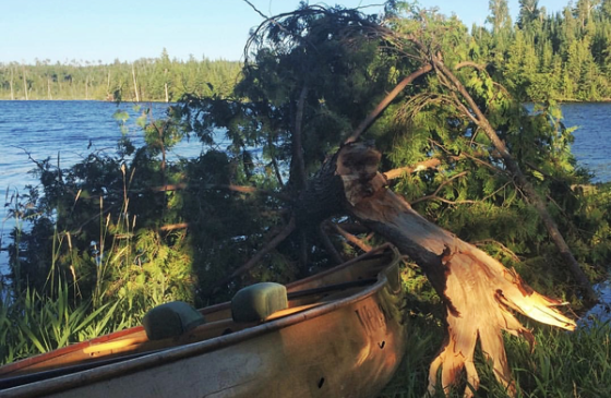
[[(267, 15), (293, 10), (298, 0), (251, 0)], [(328, 4), (358, 7), (376, 0), (335, 0)], [(420, 0), (456, 13), (470, 26), (482, 24), (488, 0)], [(518, 0), (510, 0), (515, 21)], [(310, 3), (319, 3), (310, 1)], [(568, 0), (539, 0), (548, 12), (560, 11)], [(376, 12), (381, 8), (372, 8)], [(22, 0), (5, 1), (0, 13), (0, 62), (32, 63), (71, 60), (104, 63), (158, 57), (238, 60), (251, 27), (262, 17), (242, 0)]]

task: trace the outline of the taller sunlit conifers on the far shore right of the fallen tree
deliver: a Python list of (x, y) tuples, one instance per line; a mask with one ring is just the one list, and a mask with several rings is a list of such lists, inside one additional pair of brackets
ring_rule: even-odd
[(472, 52), (493, 64), (518, 98), (611, 99), (611, 0), (570, 1), (548, 14), (537, 0), (519, 0), (512, 22), (507, 0), (490, 0), (488, 28), (474, 26)]

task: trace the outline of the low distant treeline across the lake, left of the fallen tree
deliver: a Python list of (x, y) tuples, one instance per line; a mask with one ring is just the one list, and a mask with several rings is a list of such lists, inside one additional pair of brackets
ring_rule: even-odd
[(111, 64), (88, 61), (0, 63), (0, 99), (98, 99), (175, 101), (184, 93), (229, 94), (241, 63), (159, 58)]

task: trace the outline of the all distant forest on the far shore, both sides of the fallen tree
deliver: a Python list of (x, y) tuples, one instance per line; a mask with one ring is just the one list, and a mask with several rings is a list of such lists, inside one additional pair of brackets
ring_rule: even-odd
[[(523, 100), (553, 93), (559, 100), (611, 99), (611, 0), (568, 2), (548, 14), (538, 0), (519, 0), (512, 21), (507, 0), (490, 0), (486, 26), (471, 27), (472, 57)], [(490, 67), (494, 65), (494, 67)], [(184, 93), (228, 94), (241, 64), (159, 58), (112, 64), (0, 63), (0, 99), (172, 101)]]

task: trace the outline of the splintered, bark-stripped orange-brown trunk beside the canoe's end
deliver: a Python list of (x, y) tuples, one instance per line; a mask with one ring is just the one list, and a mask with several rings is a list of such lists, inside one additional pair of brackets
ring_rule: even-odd
[[(380, 154), (364, 144), (344, 146), (336, 157), (336, 176), (343, 180), (350, 213), (416, 261), (445, 303), (447, 337), (431, 364), (429, 390), (438, 386), (440, 367), (444, 390), (456, 384), (463, 369), (469, 385), (478, 387), (474, 351), (479, 338), (496, 378), (513, 395), (502, 330), (530, 345), (534, 337), (512, 311), (567, 330), (575, 329), (575, 323), (556, 309), (559, 301), (537, 293), (514, 270), (429, 222), (387, 190), (386, 179), (376, 171), (379, 160)], [(465, 396), (472, 396), (470, 388)]]

